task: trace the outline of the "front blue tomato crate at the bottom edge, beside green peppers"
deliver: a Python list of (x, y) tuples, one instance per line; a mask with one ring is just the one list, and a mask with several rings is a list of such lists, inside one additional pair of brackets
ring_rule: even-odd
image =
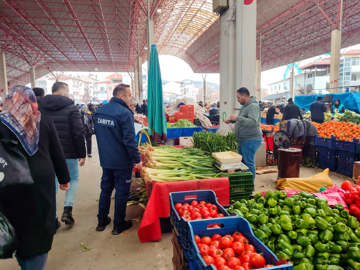
[[(221, 228), (207, 228), (208, 225), (211, 224), (221, 224)], [(191, 235), (191, 246), (190, 246), (190, 254), (193, 258), (197, 269), (199, 270), (215, 270), (213, 265), (206, 265), (204, 260), (202, 259), (199, 249), (195, 243), (194, 235), (198, 235), (199, 237), (212, 237), (214, 234), (220, 234), (224, 236), (225, 234), (232, 235), (235, 231), (239, 231), (246, 237), (250, 244), (252, 244), (258, 253), (263, 253), (265, 257), (266, 264), (276, 265), (278, 262), (278, 258), (276, 255), (265, 246), (252, 232), (249, 222), (242, 217), (222, 217), (221, 219), (203, 219), (198, 220), (198, 222), (189, 222), (190, 227), (190, 235)], [(292, 270), (292, 264), (278, 265), (273, 267), (267, 267), (266, 269), (281, 269), (281, 270)]]

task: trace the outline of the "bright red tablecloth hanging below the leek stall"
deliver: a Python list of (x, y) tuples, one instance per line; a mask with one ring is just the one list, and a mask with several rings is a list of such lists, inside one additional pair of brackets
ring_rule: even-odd
[(170, 215), (169, 193), (206, 189), (211, 189), (216, 193), (217, 200), (221, 205), (229, 204), (230, 194), (228, 178), (154, 184), (138, 230), (138, 236), (141, 243), (155, 241), (161, 238), (159, 217), (168, 217)]

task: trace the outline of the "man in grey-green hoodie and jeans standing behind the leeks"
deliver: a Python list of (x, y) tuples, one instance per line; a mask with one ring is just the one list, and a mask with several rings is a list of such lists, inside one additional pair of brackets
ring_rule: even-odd
[(252, 172), (252, 190), (255, 191), (255, 153), (261, 145), (262, 131), (260, 129), (261, 109), (256, 97), (250, 96), (246, 87), (237, 91), (238, 102), (243, 105), (239, 114), (231, 114), (224, 122), (235, 123), (234, 134), (239, 139), (238, 153), (243, 156), (242, 162)]

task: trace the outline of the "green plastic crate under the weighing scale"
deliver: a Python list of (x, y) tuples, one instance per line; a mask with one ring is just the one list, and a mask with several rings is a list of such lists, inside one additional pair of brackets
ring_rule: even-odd
[(252, 173), (239, 172), (235, 174), (223, 174), (229, 178), (230, 201), (249, 198), (252, 194)]

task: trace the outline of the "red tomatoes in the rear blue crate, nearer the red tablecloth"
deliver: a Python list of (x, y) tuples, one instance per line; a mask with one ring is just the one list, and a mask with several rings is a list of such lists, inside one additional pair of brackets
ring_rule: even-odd
[(184, 217), (185, 220), (212, 219), (213, 217), (224, 217), (224, 214), (217, 212), (217, 206), (215, 204), (206, 203), (205, 201), (192, 201), (191, 204), (176, 203), (174, 207), (180, 218)]

